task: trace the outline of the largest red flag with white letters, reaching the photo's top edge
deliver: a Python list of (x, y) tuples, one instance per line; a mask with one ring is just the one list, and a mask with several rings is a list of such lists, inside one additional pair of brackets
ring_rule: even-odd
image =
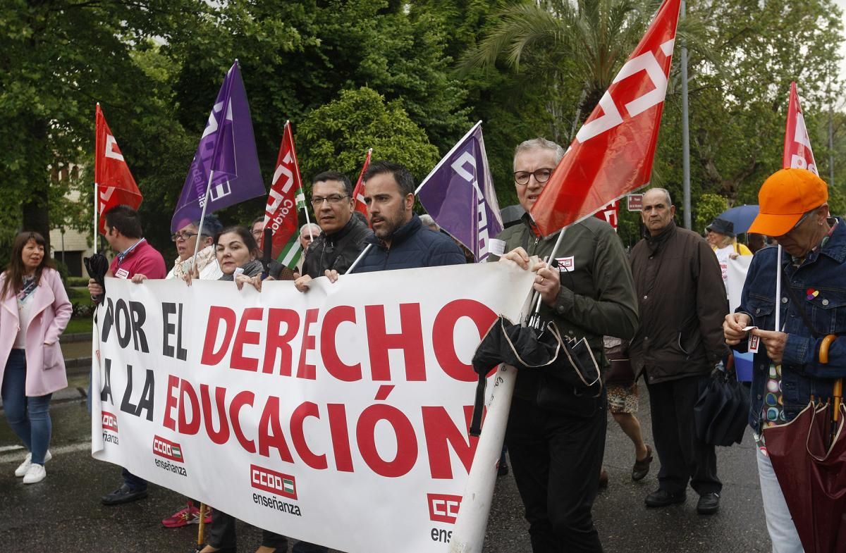
[(649, 182), (680, 3), (658, 9), (532, 206), (544, 236)]

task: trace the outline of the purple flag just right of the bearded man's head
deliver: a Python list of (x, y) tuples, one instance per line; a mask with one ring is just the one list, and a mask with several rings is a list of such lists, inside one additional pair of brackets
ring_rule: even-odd
[(503, 220), (487, 166), (481, 121), (420, 183), (417, 197), (431, 218), (467, 246), (477, 261), (486, 259), (491, 239), (503, 230)]

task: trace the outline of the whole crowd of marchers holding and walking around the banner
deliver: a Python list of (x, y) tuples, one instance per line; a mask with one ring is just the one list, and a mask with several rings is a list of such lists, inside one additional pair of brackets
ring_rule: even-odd
[[(760, 213), (750, 233), (756, 250), (742, 298), (728, 312), (725, 271), (728, 260), (752, 252), (738, 244), (732, 223), (717, 219), (707, 239), (678, 227), (675, 207), (665, 189), (643, 195), (644, 236), (629, 254), (607, 222), (587, 218), (558, 233), (542, 236), (529, 215), (564, 150), (541, 138), (526, 140), (514, 152), (514, 187), (525, 215), (497, 237), (502, 255), (489, 261), (533, 271), (543, 326), (589, 345), (602, 372), (599, 393), (548, 378), (538, 370), (519, 369), (503, 446), (500, 474), (508, 472), (505, 451), (525, 506), (535, 553), (602, 551), (592, 518), (597, 491), (607, 485), (602, 470), (607, 412), (634, 445), (631, 478), (643, 479), (657, 456), (657, 487), (645, 507), (684, 503), (688, 485), (698, 494), (696, 511), (718, 511), (722, 482), (713, 445), (695, 430), (694, 405), (706, 391), (714, 370), (726, 370), (729, 346), (744, 351), (748, 337), (761, 341), (750, 386), (749, 424), (757, 445), (757, 468), (773, 551), (799, 552), (802, 545), (766, 449), (763, 430), (788, 423), (811, 397), (831, 396), (833, 381), (846, 370), (846, 346), (835, 339), (824, 348), (821, 331), (839, 336), (846, 317), (825, 309), (821, 298), (805, 298), (806, 288), (842, 290), (846, 275), (846, 228), (830, 216), (827, 185), (814, 173), (785, 169), (761, 187)], [(148, 279), (195, 279), (233, 282), (261, 289), (267, 279), (290, 280), (301, 293), (310, 282), (336, 282), (348, 273), (392, 271), (462, 264), (466, 251), (437, 229), (431, 217), (417, 216), (415, 181), (391, 162), (374, 162), (363, 175), (367, 216), (355, 211), (353, 187), (346, 175), (322, 172), (312, 178), (310, 205), (314, 223), (300, 228), (305, 255), (294, 268), (261, 262), (259, 242), (265, 217), (248, 226), (223, 227), (206, 216), (173, 233), (178, 257), (168, 264), (144, 238), (138, 213), (125, 205), (105, 214), (105, 238), (114, 257), (107, 276), (139, 285)], [(750, 234), (750, 236), (753, 236)], [(764, 237), (781, 247), (765, 244)], [(766, 246), (766, 247), (765, 247)], [(38, 233), (20, 233), (12, 258), (0, 276), (0, 380), (8, 424), (27, 454), (15, 475), (36, 484), (47, 475), (52, 393), (67, 386), (59, 337), (71, 306), (58, 272)], [(536, 257), (535, 257), (536, 256)], [(564, 263), (563, 260), (567, 262)], [(781, 272), (782, 277), (777, 279)], [(781, 282), (783, 289), (777, 289)], [(103, 297), (96, 280), (89, 283), (95, 301)], [(781, 326), (776, 328), (777, 310)], [(807, 310), (808, 316), (797, 316)], [(629, 359), (628, 364), (615, 364)], [(614, 367), (628, 369), (618, 374)], [(834, 370), (831, 370), (831, 368)], [(652, 436), (645, 443), (638, 411), (638, 382), (649, 392)], [(142, 500), (147, 482), (124, 469), (118, 487), (102, 496), (107, 506)], [(197, 523), (209, 529), (201, 553), (235, 551), (235, 520), (218, 506), (201, 512), (198, 503), (162, 520), (166, 527)], [(225, 506), (220, 506), (225, 508)], [(675, 507), (683, 508), (683, 507)], [(283, 535), (265, 530), (257, 553), (287, 551)], [(297, 542), (294, 553), (327, 551)]]

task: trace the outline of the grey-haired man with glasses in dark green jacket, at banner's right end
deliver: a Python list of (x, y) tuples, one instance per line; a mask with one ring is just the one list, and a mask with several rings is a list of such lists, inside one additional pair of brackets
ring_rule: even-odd
[[(554, 261), (545, 262), (558, 233), (542, 237), (528, 211), (563, 155), (560, 145), (542, 138), (517, 146), (514, 185), (526, 213), (497, 236), (508, 252), (500, 260), (527, 270), (530, 255), (538, 255), (534, 289), (542, 322), (554, 322), (563, 336), (585, 338), (602, 360), (603, 335), (634, 334), (634, 285), (623, 244), (596, 217), (568, 227)], [(517, 373), (505, 442), (535, 553), (602, 551), (591, 509), (605, 451), (606, 410), (604, 389), (593, 397), (541, 371)]]

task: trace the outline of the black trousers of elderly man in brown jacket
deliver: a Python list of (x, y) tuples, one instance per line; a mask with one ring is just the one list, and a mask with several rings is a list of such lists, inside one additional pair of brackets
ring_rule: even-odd
[(688, 376), (677, 381), (649, 384), (649, 408), (652, 417), (652, 439), (661, 461), (658, 487), (678, 493), (688, 482), (701, 496), (719, 493), (722, 482), (717, 478), (717, 453), (714, 446), (696, 437), (693, 406), (710, 376)]

